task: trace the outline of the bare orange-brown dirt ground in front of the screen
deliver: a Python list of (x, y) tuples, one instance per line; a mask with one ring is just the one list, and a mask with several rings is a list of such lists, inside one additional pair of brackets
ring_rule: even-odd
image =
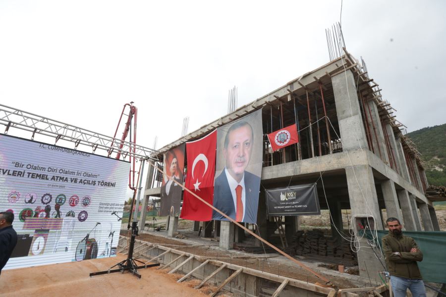
[[(0, 296), (46, 296), (70, 297), (86, 296), (207, 296), (215, 291), (215, 287), (205, 285), (201, 290), (193, 289), (198, 280), (185, 281), (180, 284), (176, 280), (180, 274), (169, 274), (168, 271), (151, 267), (138, 270), (142, 278), (130, 273), (111, 273), (89, 277), (90, 272), (108, 270), (112, 265), (125, 259), (116, 257), (69, 262), (30, 268), (4, 270), (0, 275)], [(233, 297), (235, 295), (219, 295)]]

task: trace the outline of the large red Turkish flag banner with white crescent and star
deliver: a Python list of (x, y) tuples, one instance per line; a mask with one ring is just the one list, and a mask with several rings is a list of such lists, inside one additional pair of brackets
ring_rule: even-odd
[[(202, 139), (186, 143), (185, 187), (212, 205), (214, 197), (217, 130)], [(191, 221), (210, 221), (212, 208), (187, 191), (183, 195), (180, 217)]]

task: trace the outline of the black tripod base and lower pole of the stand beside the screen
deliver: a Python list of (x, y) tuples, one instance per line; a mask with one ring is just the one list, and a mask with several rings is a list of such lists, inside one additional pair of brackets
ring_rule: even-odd
[[(137, 260), (137, 259), (133, 259), (133, 247), (135, 246), (135, 237), (138, 236), (138, 226), (137, 226), (138, 222), (132, 222), (132, 235), (130, 238), (130, 246), (128, 247), (128, 255), (127, 255), (127, 259), (111, 266), (109, 268), (109, 270), (106, 271), (99, 271), (99, 272), (92, 272), (90, 273), (90, 277), (95, 276), (95, 275), (101, 275), (101, 274), (109, 274), (109, 273), (113, 273), (113, 272), (122, 272), (124, 273), (124, 271), (129, 271), (131, 272), (133, 275), (135, 275), (138, 278), (141, 278), (141, 274), (138, 273), (138, 269), (140, 268), (147, 268), (147, 267), (154, 267), (154, 266), (160, 266), (160, 263), (155, 263), (155, 264), (145, 264), (144, 262)], [(144, 265), (140, 265), (138, 266), (138, 264), (136, 262), (140, 262)], [(117, 269), (111, 269), (113, 267), (118, 266), (119, 268)]]

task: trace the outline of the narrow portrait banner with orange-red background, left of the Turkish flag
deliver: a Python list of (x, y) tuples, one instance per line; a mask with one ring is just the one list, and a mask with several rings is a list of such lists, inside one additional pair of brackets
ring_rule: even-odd
[(164, 154), (163, 182), (161, 184), (161, 215), (179, 216), (184, 171), (184, 144)]

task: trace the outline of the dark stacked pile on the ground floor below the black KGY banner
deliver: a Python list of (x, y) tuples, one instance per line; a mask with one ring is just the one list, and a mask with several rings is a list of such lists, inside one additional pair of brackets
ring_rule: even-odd
[(294, 249), (297, 255), (319, 255), (335, 258), (344, 258), (356, 260), (350, 244), (346, 241), (338, 241), (334, 237), (324, 235), (319, 230), (307, 231), (302, 230), (293, 235), (288, 249)]

